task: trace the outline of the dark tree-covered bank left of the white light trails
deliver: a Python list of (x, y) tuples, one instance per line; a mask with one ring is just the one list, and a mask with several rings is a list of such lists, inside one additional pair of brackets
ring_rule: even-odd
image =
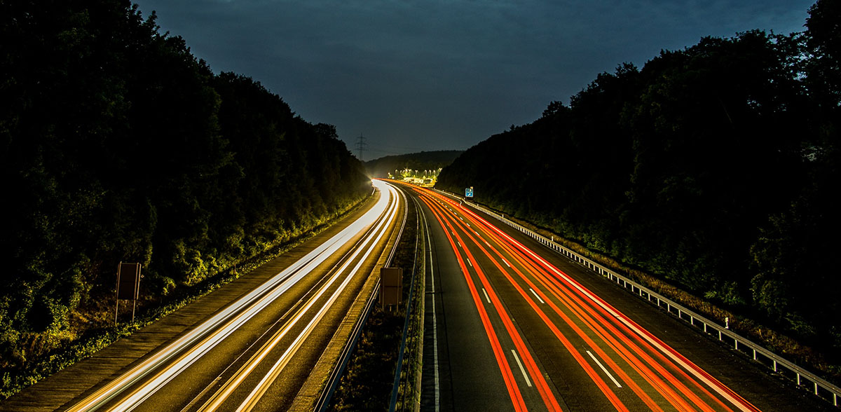
[(0, 3), (4, 384), (113, 322), (119, 261), (165, 296), (370, 193), (335, 127), (214, 74), (155, 20), (127, 0)]

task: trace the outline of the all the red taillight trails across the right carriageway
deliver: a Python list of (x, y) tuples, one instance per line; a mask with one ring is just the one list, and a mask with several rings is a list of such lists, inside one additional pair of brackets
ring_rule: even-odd
[[(505, 357), (503, 341), (508, 339), (516, 348), (515, 358), (519, 354), (523, 359), (526, 383), (531, 378), (547, 409), (561, 407), (505, 309), (500, 288), (525, 301), (616, 410), (629, 410), (629, 402), (658, 411), (759, 410), (504, 231), (450, 198), (413, 189), (447, 235), (516, 410), (526, 409), (525, 389), (518, 386)], [(479, 287), (490, 308), (485, 308)]]

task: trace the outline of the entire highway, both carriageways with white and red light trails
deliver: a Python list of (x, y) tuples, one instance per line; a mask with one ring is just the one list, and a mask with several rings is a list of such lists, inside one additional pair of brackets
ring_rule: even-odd
[[(374, 186), (370, 209), (265, 276), (161, 320), (171, 338), (150, 325), (0, 411), (311, 410), (394, 245), (399, 192), (427, 229), (421, 410), (835, 410), (458, 198)], [(218, 309), (186, 314), (217, 295)], [(115, 357), (128, 361), (112, 370)]]

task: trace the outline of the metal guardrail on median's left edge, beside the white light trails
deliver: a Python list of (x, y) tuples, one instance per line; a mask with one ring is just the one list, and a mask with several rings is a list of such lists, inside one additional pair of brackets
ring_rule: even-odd
[[(400, 243), (400, 238), (403, 236), (403, 230), (406, 226), (406, 218), (409, 215), (408, 209), (408, 206), (404, 209), (403, 224), (400, 225), (400, 229), (397, 234), (397, 240), (394, 241), (394, 246), (391, 248), (391, 251), (389, 252), (389, 257), (388, 259), (386, 259), (385, 263), (383, 264), (383, 267), (389, 267), (389, 265), (391, 264), (391, 260), (394, 259), (394, 254), (397, 251), (397, 246)], [(333, 394), (336, 393), (336, 388), (339, 388), (339, 383), (341, 383), (341, 376), (345, 373), (347, 363), (351, 360), (353, 350), (356, 349), (357, 342), (359, 341), (359, 338), (362, 337), (362, 330), (364, 330), (365, 323), (368, 322), (368, 317), (373, 311), (374, 306), (376, 306), (375, 303), (377, 302), (379, 296), (379, 288), (380, 281), (377, 280), (377, 283), (374, 284), (371, 295), (369, 295), (368, 299), (365, 301), (365, 306), (362, 307), (362, 314), (359, 316), (357, 323), (353, 325), (350, 339), (347, 341), (347, 344), (341, 349), (341, 354), (339, 355), (339, 358), (336, 361), (336, 367), (333, 368), (330, 377), (327, 378), (325, 388), (321, 391), (321, 395), (319, 399), (315, 402), (315, 407), (313, 408), (313, 410), (318, 412), (324, 412), (330, 405), (330, 400), (333, 397)]]

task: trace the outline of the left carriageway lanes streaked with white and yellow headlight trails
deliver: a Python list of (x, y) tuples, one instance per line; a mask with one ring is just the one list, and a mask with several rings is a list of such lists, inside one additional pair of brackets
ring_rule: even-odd
[[(374, 187), (373, 207), (343, 230), (59, 410), (311, 408), (315, 399), (301, 396), (304, 383), (329, 374), (316, 365), (348, 324), (352, 304), (364, 300), (363, 284), (389, 255), (402, 223), (399, 193), (383, 182)], [(3, 407), (14, 409), (9, 400)]]

